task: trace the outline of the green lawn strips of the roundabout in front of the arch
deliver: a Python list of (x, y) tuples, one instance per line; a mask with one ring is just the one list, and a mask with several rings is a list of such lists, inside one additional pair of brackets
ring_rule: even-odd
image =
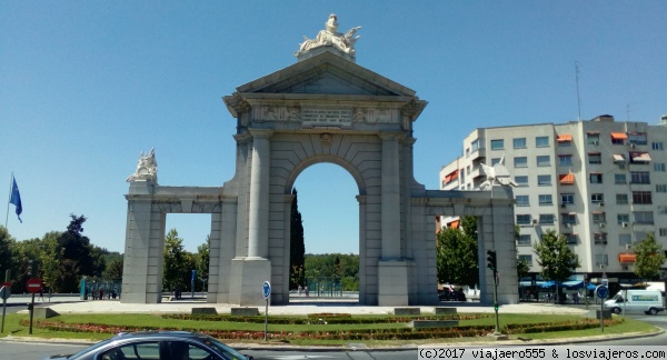
[[(225, 318), (225, 317), (222, 317)], [(281, 317), (289, 318), (289, 317)], [(305, 319), (306, 317), (293, 317)], [(357, 317), (352, 317), (357, 318)], [(394, 318), (394, 316), (375, 316), (362, 317), (365, 319), (381, 319)], [(96, 332), (97, 327), (92, 327), (90, 331), (68, 332), (40, 329), (34, 326), (32, 334), (28, 333), (28, 327), (20, 323), (21, 320), (27, 320), (28, 314), (9, 314), (4, 322), (4, 333), (1, 336), (11, 334), (13, 337), (33, 337), (49, 339), (80, 339), (80, 340), (102, 340), (111, 337), (110, 333)], [(583, 318), (579, 316), (558, 316), (558, 314), (501, 314), (499, 318), (500, 329), (507, 324), (521, 323), (557, 323), (565, 321), (578, 321)], [(619, 319), (615, 316), (615, 319)], [(37, 320), (36, 320), (37, 321)], [(197, 330), (235, 330), (235, 331), (261, 331), (263, 332), (263, 322), (235, 322), (235, 321), (200, 321), (200, 320), (178, 320), (165, 319), (159, 314), (63, 314), (50, 318), (46, 321), (66, 322), (72, 324), (98, 324), (104, 327), (137, 327), (141, 328), (159, 328), (159, 329), (197, 329)], [(378, 322), (378, 323), (359, 323), (359, 324), (272, 324), (269, 317), (269, 332), (306, 332), (306, 331), (347, 331), (358, 329), (405, 329), (405, 322)], [(481, 318), (474, 320), (460, 320), (459, 326), (494, 326), (495, 318)], [(623, 323), (605, 327), (603, 333), (598, 328), (587, 330), (568, 330), (568, 331), (549, 331), (538, 333), (521, 333), (511, 334), (510, 339), (545, 340), (559, 338), (581, 338), (599, 334), (619, 334), (619, 333), (648, 333), (656, 331), (656, 328), (647, 323), (624, 319)], [(289, 340), (289, 343), (296, 346), (336, 346), (346, 344), (349, 342), (364, 342), (369, 347), (372, 346), (401, 346), (401, 344), (419, 344), (419, 343), (460, 343), (460, 342), (477, 342), (485, 341), (485, 338), (454, 338), (454, 339), (425, 339), (425, 340), (368, 340), (368, 341), (346, 341), (346, 340), (313, 340), (299, 339)], [(223, 340), (225, 341), (225, 340)], [(261, 339), (263, 341), (263, 338)], [(227, 342), (231, 342), (227, 340)], [(258, 340), (233, 340), (233, 342), (258, 342)], [(283, 343), (285, 341), (281, 341)]]

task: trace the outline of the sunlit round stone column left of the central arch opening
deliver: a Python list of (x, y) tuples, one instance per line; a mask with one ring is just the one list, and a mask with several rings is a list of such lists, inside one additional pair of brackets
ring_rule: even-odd
[(267, 258), (269, 252), (269, 172), (272, 130), (251, 129), (250, 207), (248, 258)]

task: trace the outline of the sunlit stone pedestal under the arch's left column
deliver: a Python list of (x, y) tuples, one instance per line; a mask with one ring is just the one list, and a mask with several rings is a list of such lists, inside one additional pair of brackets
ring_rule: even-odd
[(262, 296), (265, 281), (271, 280), (271, 262), (263, 258), (231, 260), (229, 302), (242, 307), (266, 306)]

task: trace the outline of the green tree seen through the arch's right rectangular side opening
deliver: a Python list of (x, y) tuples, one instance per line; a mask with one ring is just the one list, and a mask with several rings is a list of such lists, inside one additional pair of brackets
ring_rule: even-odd
[(479, 280), (477, 219), (461, 217), (461, 229), (444, 229), (437, 234), (438, 281), (475, 286)]

